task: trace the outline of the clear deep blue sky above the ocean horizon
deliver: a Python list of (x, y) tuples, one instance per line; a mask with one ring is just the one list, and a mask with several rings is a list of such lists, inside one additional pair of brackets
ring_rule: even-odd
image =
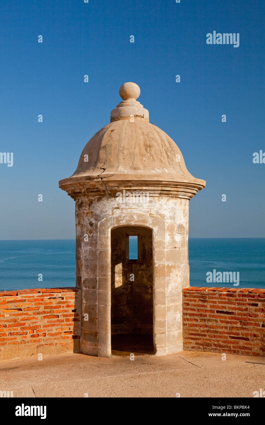
[[(13, 167), (0, 164), (0, 239), (75, 237), (74, 201), (58, 181), (127, 81), (206, 180), (189, 236), (265, 237), (265, 164), (253, 163), (265, 152), (264, 0), (0, 3), (0, 151), (14, 155)], [(206, 44), (213, 31), (239, 33), (239, 47)]]

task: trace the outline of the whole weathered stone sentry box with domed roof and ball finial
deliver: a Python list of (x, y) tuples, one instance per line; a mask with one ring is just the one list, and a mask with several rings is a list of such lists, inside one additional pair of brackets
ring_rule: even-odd
[[(73, 176), (59, 182), (76, 202), (80, 350), (108, 357), (115, 338), (133, 334), (164, 355), (182, 349), (188, 201), (205, 181), (188, 172), (174, 141), (149, 123), (136, 100), (140, 88), (125, 83), (120, 95), (111, 123), (86, 144)], [(136, 260), (129, 258), (130, 236), (137, 236)]]

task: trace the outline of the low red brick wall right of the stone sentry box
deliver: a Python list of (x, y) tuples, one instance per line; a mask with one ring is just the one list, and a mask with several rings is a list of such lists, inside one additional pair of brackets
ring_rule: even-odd
[(183, 349), (265, 355), (265, 289), (183, 289)]

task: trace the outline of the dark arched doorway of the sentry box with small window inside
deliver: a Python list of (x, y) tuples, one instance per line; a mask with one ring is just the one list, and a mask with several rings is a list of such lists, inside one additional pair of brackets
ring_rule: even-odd
[(152, 230), (111, 230), (111, 349), (153, 353)]

